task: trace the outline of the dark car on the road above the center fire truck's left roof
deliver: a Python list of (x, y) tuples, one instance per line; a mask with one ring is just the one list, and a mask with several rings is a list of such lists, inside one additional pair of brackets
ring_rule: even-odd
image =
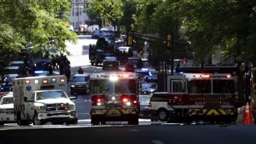
[(115, 56), (106, 56), (102, 62), (102, 70), (110, 69), (119, 69), (119, 61)]

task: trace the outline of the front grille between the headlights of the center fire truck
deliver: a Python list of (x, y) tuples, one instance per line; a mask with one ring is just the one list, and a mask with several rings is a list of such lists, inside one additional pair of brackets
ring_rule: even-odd
[(122, 107), (122, 96), (106, 95), (105, 96), (106, 109), (120, 109)]

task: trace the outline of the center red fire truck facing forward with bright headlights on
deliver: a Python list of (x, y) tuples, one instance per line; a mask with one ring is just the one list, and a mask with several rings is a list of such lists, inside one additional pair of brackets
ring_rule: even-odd
[(92, 74), (91, 124), (105, 125), (106, 122), (127, 121), (129, 125), (138, 125), (140, 85), (135, 73)]

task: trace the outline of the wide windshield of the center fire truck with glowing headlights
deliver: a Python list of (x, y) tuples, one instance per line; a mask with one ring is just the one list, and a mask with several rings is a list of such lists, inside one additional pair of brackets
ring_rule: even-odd
[(134, 85), (134, 83), (134, 79), (118, 79), (116, 81), (111, 81), (109, 79), (93, 80), (92, 93), (136, 93), (137, 86)]

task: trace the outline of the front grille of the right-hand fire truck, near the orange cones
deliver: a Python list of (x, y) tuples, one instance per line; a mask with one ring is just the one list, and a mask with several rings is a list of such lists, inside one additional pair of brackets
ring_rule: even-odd
[(220, 95), (205, 95), (205, 109), (218, 109), (220, 107)]

